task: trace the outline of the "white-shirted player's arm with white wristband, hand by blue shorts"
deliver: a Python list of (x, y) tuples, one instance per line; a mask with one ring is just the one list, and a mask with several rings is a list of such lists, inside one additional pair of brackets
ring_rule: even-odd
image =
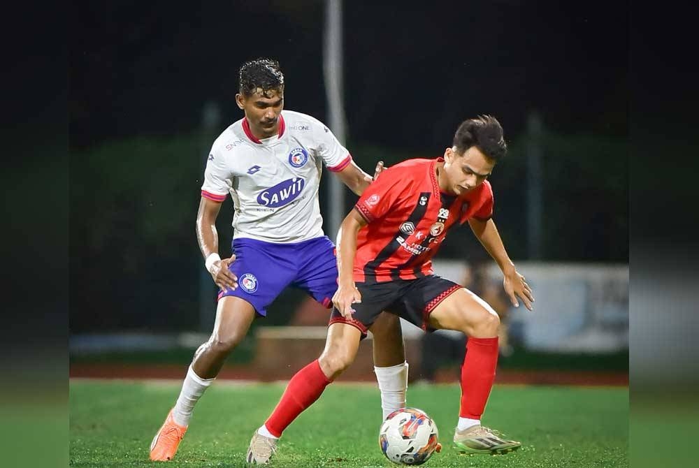
[[(201, 197), (199, 210), (196, 212), (196, 241), (199, 242), (199, 250), (205, 259), (205, 265), (214, 282), (223, 289), (235, 289), (238, 287), (238, 277), (228, 269), (236, 260), (236, 255), (221, 260), (218, 255), (218, 232), (216, 231), (216, 218), (221, 210), (222, 203)], [(211, 256), (211, 257), (210, 257)]]

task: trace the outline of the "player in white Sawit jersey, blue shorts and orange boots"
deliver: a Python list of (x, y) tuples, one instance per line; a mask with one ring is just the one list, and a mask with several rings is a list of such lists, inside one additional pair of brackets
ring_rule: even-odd
[[(220, 288), (214, 329), (194, 353), (178, 400), (155, 434), (151, 460), (173, 459), (194, 404), (255, 317), (266, 316), (266, 307), (284, 288), (301, 288), (332, 307), (338, 270), (335, 246), (322, 230), (322, 165), (358, 195), (372, 180), (322, 122), (282, 110), (284, 75), (277, 61), (248, 61), (239, 80), (236, 103), (245, 117), (212, 145), (196, 214), (199, 248)], [(222, 259), (215, 221), (229, 193), (235, 205), (233, 255)], [(372, 332), (385, 417), (405, 406), (408, 363), (396, 316), (382, 314)]]

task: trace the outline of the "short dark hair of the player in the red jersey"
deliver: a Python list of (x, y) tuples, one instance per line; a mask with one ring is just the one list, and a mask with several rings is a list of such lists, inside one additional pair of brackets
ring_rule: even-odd
[(453, 146), (458, 154), (463, 154), (468, 148), (475, 146), (495, 161), (507, 154), (503, 126), (491, 115), (479, 115), (475, 119), (461, 122), (454, 133)]

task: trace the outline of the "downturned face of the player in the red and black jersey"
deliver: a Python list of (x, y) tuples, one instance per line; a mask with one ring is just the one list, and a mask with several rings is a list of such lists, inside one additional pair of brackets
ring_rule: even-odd
[(447, 148), (444, 154), (444, 176), (440, 177), (440, 189), (452, 195), (461, 195), (478, 187), (493, 172), (495, 161), (475, 146), (463, 154)]

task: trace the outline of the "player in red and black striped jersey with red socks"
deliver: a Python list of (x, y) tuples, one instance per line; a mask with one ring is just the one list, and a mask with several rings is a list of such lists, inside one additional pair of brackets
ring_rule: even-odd
[[(500, 266), (512, 305), (534, 297), (505, 251), (486, 180), (507, 145), (497, 119), (468, 119), (443, 158), (410, 159), (384, 170), (362, 193), (338, 233), (338, 290), (326, 346), (296, 373), (250, 442), (248, 462), (266, 463), (282, 431), (354, 361), (359, 342), (386, 310), (426, 332), (468, 336), (454, 444), (466, 453), (507, 453), (521, 444), (481, 425), (498, 362), (498, 314), (466, 288), (434, 274), (431, 258), (457, 224), (468, 221)], [(518, 300), (519, 298), (519, 300)], [(272, 437), (270, 437), (270, 435)]]

